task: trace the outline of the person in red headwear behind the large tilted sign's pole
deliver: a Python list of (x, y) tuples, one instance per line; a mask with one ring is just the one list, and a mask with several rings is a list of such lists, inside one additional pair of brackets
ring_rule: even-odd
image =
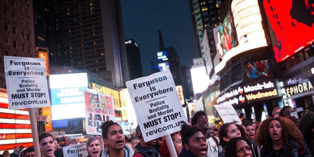
[[(174, 144), (175, 152), (176, 152), (177, 156), (179, 156), (181, 153), (181, 150), (183, 148), (181, 135), (178, 132), (171, 133), (171, 139), (172, 139), (172, 142)], [(160, 146), (160, 156), (161, 157), (170, 157), (170, 152), (169, 152), (168, 145), (167, 145), (165, 139), (163, 139), (162, 144)]]

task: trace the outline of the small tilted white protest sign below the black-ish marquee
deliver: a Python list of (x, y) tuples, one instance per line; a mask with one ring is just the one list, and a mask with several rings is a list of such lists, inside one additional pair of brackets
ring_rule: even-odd
[(235, 109), (231, 104), (215, 104), (213, 105), (217, 112), (219, 113), (222, 121), (226, 122), (234, 122), (236, 121), (237, 124), (241, 124), (241, 120), (238, 117)]

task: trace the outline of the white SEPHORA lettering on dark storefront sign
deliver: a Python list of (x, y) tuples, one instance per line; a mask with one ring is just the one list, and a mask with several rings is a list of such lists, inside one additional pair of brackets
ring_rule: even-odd
[(313, 89), (312, 83), (310, 81), (307, 81), (304, 83), (296, 84), (294, 86), (290, 86), (290, 87), (287, 86), (286, 88), (281, 88), (281, 92), (282, 92), (282, 97), (286, 98), (286, 97), (290, 97), (291, 95), (298, 94), (298, 93), (305, 92), (312, 89)]

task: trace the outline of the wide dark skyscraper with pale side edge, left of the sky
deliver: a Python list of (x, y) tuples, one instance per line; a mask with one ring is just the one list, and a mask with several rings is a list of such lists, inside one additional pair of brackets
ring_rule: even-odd
[(120, 0), (54, 0), (55, 59), (116, 86), (129, 79)]

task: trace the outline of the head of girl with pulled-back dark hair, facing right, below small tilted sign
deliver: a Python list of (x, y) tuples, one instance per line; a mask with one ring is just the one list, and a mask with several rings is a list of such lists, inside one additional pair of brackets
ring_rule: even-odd
[(222, 151), (219, 154), (219, 157), (225, 155), (225, 146), (227, 142), (233, 137), (241, 137), (240, 129), (232, 122), (227, 122), (222, 124), (218, 129), (219, 135), (219, 144), (222, 146)]

